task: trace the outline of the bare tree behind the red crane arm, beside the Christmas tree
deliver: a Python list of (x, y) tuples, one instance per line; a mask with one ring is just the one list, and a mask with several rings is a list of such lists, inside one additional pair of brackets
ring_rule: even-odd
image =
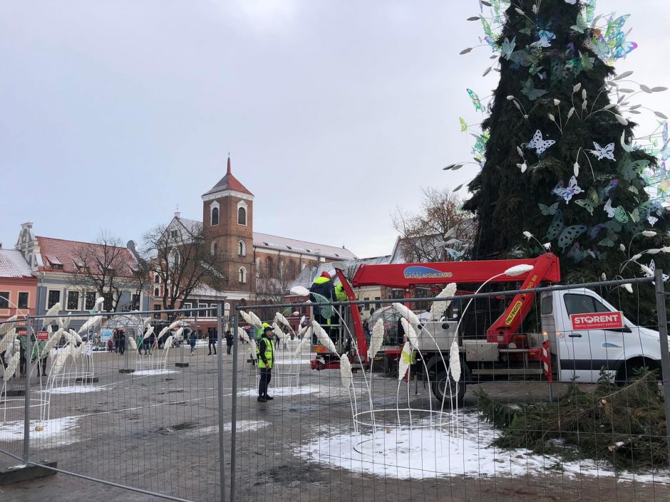
[(448, 189), (423, 189), (421, 210), (396, 209), (393, 227), (401, 235), (407, 261), (460, 261), (468, 258), (476, 231), (472, 214)]

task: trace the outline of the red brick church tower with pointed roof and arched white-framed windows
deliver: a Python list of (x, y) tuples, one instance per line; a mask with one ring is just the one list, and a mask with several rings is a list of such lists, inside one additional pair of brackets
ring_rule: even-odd
[(254, 194), (232, 175), (228, 157), (226, 175), (202, 195), (202, 226), (212, 252), (224, 258), (232, 304), (255, 291), (253, 221)]

